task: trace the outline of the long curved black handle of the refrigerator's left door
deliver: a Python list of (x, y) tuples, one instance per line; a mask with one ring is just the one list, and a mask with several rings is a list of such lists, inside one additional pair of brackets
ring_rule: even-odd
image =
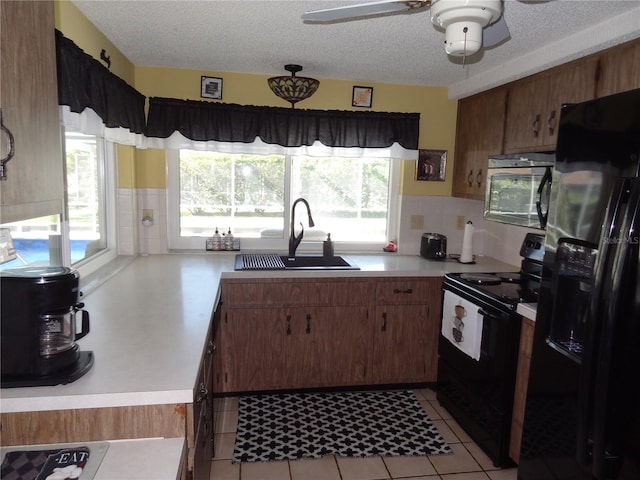
[(602, 315), (604, 308), (602, 304), (605, 300), (602, 293), (605, 291), (610, 292), (612, 288), (609, 272), (611, 271), (611, 251), (615, 250), (616, 245), (612, 239), (616, 236), (616, 225), (618, 224), (624, 203), (624, 182), (618, 181), (609, 197), (609, 203), (602, 225), (602, 235), (598, 246), (591, 301), (585, 319), (576, 434), (576, 459), (582, 467), (589, 467), (593, 461), (593, 408), (596, 390), (596, 368), (598, 365), (598, 358), (596, 356), (599, 353), (597, 340), (601, 335), (599, 328), (601, 322), (599, 318)]

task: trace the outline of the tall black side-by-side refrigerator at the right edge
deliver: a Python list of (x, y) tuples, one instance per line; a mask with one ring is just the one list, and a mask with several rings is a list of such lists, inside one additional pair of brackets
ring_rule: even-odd
[(519, 480), (640, 479), (640, 89), (564, 106)]

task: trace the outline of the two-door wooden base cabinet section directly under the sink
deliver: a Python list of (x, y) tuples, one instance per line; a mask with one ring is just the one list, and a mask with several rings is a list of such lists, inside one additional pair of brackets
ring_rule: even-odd
[(223, 283), (223, 392), (363, 384), (367, 282)]

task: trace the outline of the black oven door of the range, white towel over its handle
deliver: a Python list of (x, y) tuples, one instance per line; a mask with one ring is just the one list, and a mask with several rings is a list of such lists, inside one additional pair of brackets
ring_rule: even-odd
[[(456, 286), (443, 285), (443, 319), (439, 342), (438, 401), (487, 453), (496, 466), (510, 466), (509, 436), (521, 317), (500, 311)], [(453, 297), (452, 297), (453, 295)], [(451, 298), (455, 304), (451, 310)], [(445, 307), (448, 304), (449, 307)], [(474, 359), (446, 331), (457, 324), (456, 305), (464, 306), (462, 334), (469, 324), (467, 305), (481, 317), (479, 358)], [(452, 313), (453, 312), (453, 313)], [(454, 315), (452, 320), (451, 315)], [(453, 334), (451, 335), (453, 336)]]

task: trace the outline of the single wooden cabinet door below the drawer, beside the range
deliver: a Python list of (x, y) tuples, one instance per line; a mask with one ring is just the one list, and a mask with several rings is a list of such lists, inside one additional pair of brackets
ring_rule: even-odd
[(434, 381), (427, 372), (429, 356), (426, 305), (376, 308), (373, 371), (377, 383)]

